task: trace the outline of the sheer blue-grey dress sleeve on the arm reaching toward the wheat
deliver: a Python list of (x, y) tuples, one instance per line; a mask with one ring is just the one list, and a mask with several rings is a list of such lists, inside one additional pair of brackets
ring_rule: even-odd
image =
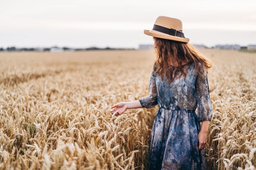
[(138, 100), (144, 108), (152, 108), (157, 105), (157, 88), (155, 83), (154, 67), (148, 85), (148, 96), (139, 97)]

